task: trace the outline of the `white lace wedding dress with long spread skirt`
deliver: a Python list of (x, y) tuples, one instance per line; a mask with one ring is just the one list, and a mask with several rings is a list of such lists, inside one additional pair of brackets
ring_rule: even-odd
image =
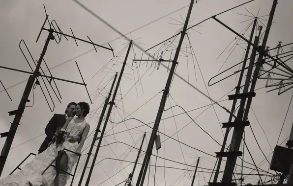
[[(69, 122), (66, 131), (68, 131), (71, 136), (78, 136), (83, 133), (86, 121), (75, 123), (74, 120), (75, 118)], [(63, 144), (58, 147), (56, 147), (56, 143), (51, 144), (44, 152), (37, 154), (35, 158), (30, 163), (26, 164), (19, 172), (1, 179), (0, 186), (29, 186), (29, 183), (32, 186), (54, 186), (56, 177), (55, 168), (50, 166), (43, 175), (41, 175), (41, 173), (56, 158), (58, 151), (66, 148), (75, 152), (78, 146), (78, 142), (70, 143), (68, 140), (65, 140)], [(68, 151), (65, 152), (68, 157), (67, 172), (71, 173), (74, 164), (78, 160), (78, 156)], [(56, 165), (56, 163), (53, 163), (53, 165)], [(70, 175), (67, 174), (67, 181), (69, 178)]]

